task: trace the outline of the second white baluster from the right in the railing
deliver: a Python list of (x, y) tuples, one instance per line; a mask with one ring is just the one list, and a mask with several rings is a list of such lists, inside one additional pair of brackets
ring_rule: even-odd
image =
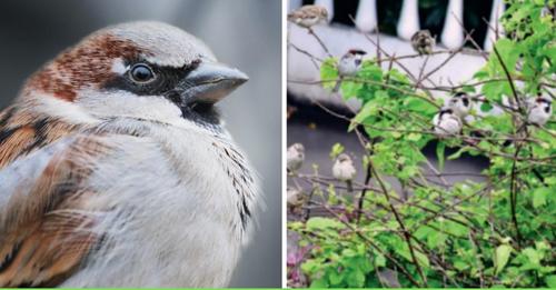
[(459, 48), (464, 44), (464, 0), (449, 0), (444, 21), (441, 42), (449, 49)]

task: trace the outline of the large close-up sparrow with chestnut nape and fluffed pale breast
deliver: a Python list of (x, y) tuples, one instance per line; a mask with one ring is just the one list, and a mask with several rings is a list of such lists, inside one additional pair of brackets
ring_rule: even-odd
[(227, 286), (259, 197), (215, 104), (247, 80), (159, 22), (36, 72), (0, 113), (0, 287)]

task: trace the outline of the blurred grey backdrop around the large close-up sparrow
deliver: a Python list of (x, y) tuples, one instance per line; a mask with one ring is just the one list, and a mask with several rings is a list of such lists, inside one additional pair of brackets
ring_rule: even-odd
[(267, 204), (231, 286), (281, 287), (280, 14), (277, 0), (0, 1), (0, 109), (42, 63), (108, 24), (159, 20), (201, 38), (250, 77), (220, 107), (260, 173)]

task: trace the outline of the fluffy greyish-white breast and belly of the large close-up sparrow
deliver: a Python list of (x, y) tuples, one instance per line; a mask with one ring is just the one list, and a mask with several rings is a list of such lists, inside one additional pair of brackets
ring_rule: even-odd
[[(113, 243), (106, 246), (110, 260), (99, 259), (83, 271), (82, 279), (98, 277), (107, 284), (121, 286), (222, 287), (231, 277), (251, 221), (251, 170), (226, 138), (178, 130), (157, 133), (151, 136), (156, 142), (149, 141), (142, 151), (158, 153), (133, 158), (140, 178), (128, 182), (129, 172), (109, 177), (141, 186), (106, 197), (118, 199), (118, 212), (107, 218), (108, 232), (126, 234), (112, 237)], [(139, 150), (140, 143), (125, 146), (129, 146), (122, 150), (126, 154), (139, 156), (132, 150)], [(109, 273), (107, 262), (112, 264)], [(79, 284), (81, 278), (76, 279)]]

